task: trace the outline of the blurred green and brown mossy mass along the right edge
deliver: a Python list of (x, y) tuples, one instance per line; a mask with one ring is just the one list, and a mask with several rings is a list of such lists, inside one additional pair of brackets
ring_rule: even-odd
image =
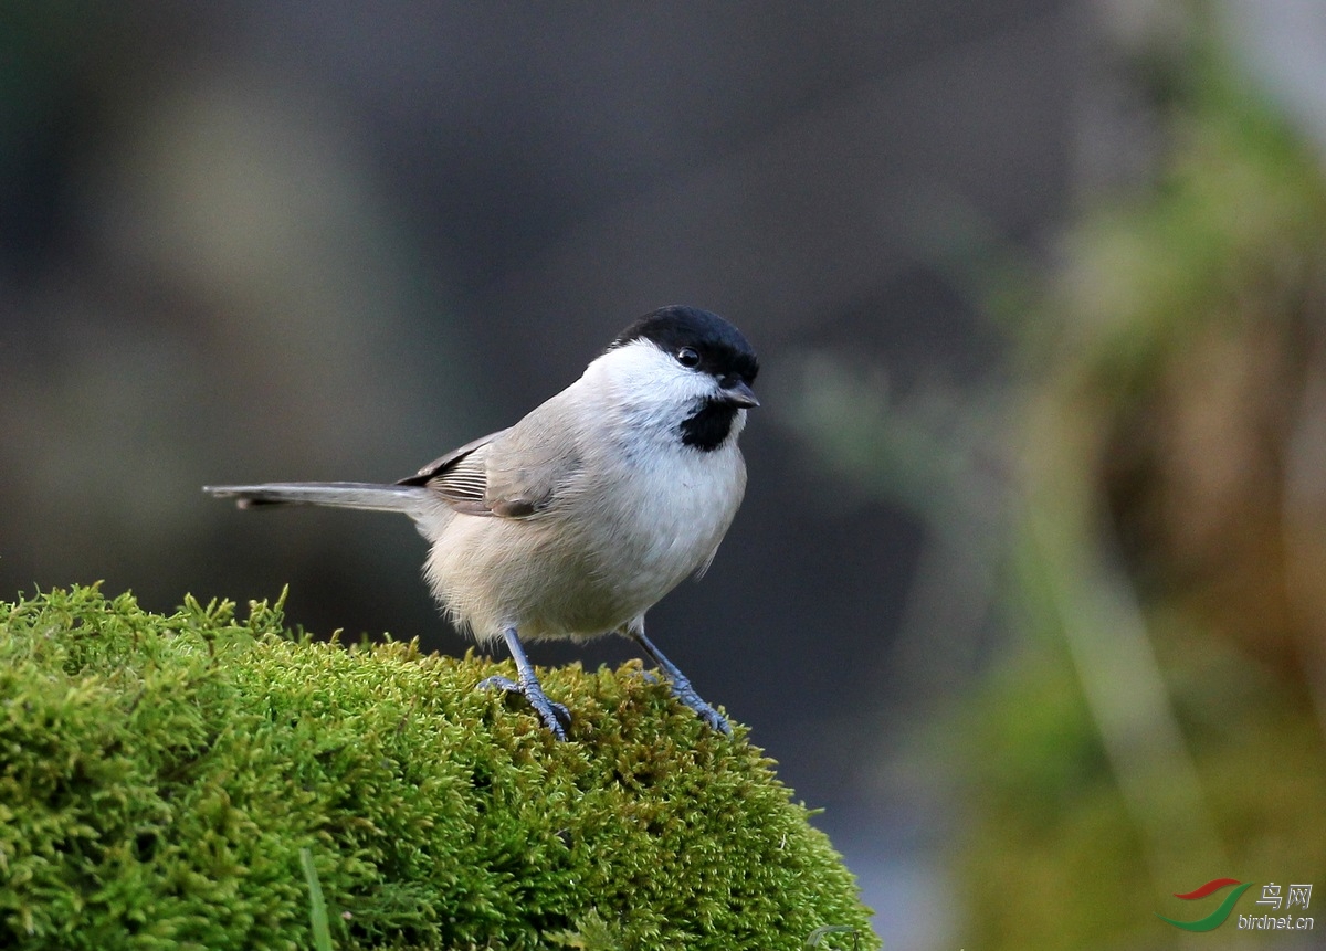
[(959, 731), (987, 948), (1176, 947), (1152, 913), (1211, 909), (1174, 893), (1326, 879), (1326, 179), (1187, 69), (1159, 179), (1082, 216), (1018, 325), (1026, 637)]

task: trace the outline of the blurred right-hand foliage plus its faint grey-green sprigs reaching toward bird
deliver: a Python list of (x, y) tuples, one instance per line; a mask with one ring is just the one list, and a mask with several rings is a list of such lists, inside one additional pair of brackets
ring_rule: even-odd
[(821, 355), (794, 403), (939, 552), (891, 691), (957, 713), (883, 732), (956, 779), (983, 948), (1179, 947), (1156, 913), (1213, 906), (1175, 893), (1326, 879), (1326, 164), (1211, 36), (1147, 61), (1155, 179), (1079, 213), (1049, 278), (932, 209), (922, 257), (979, 285), (1006, 360), (908, 384)]

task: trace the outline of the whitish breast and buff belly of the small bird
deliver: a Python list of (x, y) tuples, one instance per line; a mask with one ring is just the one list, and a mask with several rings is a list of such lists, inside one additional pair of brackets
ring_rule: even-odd
[(708, 564), (741, 502), (740, 452), (679, 448), (648, 458), (618, 473), (611, 493), (575, 486), (546, 517), (456, 517), (427, 564), (452, 619), (481, 640), (507, 625), (528, 638), (593, 637), (621, 629)]

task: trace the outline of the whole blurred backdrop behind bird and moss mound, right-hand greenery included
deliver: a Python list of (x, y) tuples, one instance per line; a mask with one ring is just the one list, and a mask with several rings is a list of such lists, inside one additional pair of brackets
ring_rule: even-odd
[(392, 481), (712, 309), (764, 364), (751, 487), (651, 633), (886, 946), (1318, 946), (1156, 913), (1326, 887), (1326, 7), (0, 24), (0, 597), (288, 583), (461, 652), (404, 519), (199, 487)]

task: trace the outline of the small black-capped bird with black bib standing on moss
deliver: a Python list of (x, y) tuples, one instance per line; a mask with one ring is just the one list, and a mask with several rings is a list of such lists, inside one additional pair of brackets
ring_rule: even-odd
[(570, 713), (544, 693), (522, 641), (622, 634), (672, 695), (731, 735), (644, 633), (644, 615), (703, 575), (747, 485), (737, 440), (760, 364), (732, 323), (659, 307), (622, 330), (585, 372), (514, 425), (391, 485), (204, 486), (243, 509), (320, 505), (403, 513), (430, 543), (423, 574), (447, 617), (480, 645), (505, 642), (521, 694), (568, 738)]

